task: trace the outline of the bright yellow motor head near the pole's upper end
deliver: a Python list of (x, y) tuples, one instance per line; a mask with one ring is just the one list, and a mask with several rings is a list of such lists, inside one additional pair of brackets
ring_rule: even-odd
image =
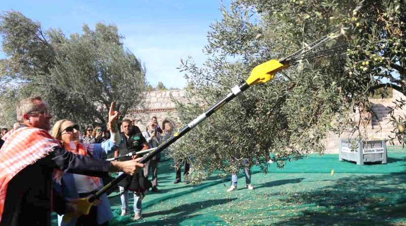
[(250, 77), (247, 79), (248, 85), (256, 85), (258, 83), (265, 83), (273, 79), (275, 74), (282, 69), (288, 68), (289, 64), (282, 64), (277, 59), (272, 59), (256, 66)]

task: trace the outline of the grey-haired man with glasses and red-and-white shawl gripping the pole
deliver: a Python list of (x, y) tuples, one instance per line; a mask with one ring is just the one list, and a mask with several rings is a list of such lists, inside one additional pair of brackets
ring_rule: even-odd
[(6, 134), (0, 151), (1, 225), (50, 225), (51, 210), (66, 212), (65, 201), (51, 195), (54, 170), (102, 177), (109, 171), (133, 175), (143, 167), (140, 159), (108, 162), (64, 150), (48, 133), (51, 118), (48, 105), (39, 96), (17, 106), (20, 126)]

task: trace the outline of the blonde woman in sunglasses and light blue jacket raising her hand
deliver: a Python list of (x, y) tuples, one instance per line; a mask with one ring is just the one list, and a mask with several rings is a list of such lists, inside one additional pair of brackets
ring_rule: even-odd
[[(119, 113), (114, 112), (113, 107), (114, 103), (112, 103), (110, 107), (108, 122), (111, 138), (103, 143), (80, 143), (79, 125), (66, 119), (59, 120), (55, 123), (52, 128), (52, 136), (54, 136), (66, 150), (70, 150), (76, 154), (88, 155), (96, 159), (105, 157), (108, 151), (117, 148), (121, 142), (116, 122)], [(56, 181), (58, 181), (58, 183), (54, 184), (56, 190), (62, 193), (67, 199), (84, 198), (94, 194), (103, 187), (101, 178), (97, 177), (62, 173), (61, 171), (54, 173), (54, 177)], [(98, 206), (93, 206), (90, 209), (89, 214), (82, 215), (77, 219), (72, 219), (67, 223), (61, 222), (62, 216), (58, 215), (59, 226), (109, 225), (109, 220), (113, 218), (113, 213), (106, 194), (100, 197), (100, 201), (101, 203)]]

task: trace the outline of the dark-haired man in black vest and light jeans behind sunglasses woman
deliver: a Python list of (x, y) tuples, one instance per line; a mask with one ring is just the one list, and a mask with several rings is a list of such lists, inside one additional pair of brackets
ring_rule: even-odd
[[(146, 150), (149, 148), (147, 141), (144, 139), (140, 130), (136, 130), (131, 124), (129, 119), (124, 119), (121, 123), (121, 147), (114, 152), (114, 157), (125, 156), (134, 151)], [(138, 156), (133, 156), (138, 157)], [(127, 160), (130, 157), (124, 157), (120, 160)], [(145, 181), (144, 174), (142, 172), (134, 174), (124, 179), (119, 183), (121, 192), (121, 215), (130, 215), (129, 205), (128, 205), (128, 190), (134, 193), (134, 220), (141, 218), (142, 211), (142, 199), (144, 192), (146, 192), (146, 187), (141, 184)], [(146, 182), (149, 182), (146, 180)]]

